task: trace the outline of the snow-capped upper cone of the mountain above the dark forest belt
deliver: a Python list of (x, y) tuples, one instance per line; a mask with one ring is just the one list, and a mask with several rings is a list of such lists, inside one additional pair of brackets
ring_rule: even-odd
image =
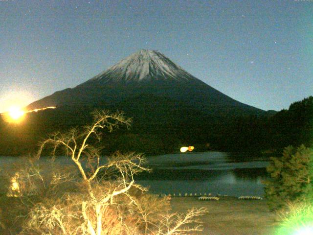
[[(163, 102), (164, 101), (164, 102)], [(236, 101), (180, 68), (162, 53), (140, 50), (88, 81), (29, 104), (48, 106), (149, 106), (197, 110), (210, 115), (263, 115), (266, 111)]]

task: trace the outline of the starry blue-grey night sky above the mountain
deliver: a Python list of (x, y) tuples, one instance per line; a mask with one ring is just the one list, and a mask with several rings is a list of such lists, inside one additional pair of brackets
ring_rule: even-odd
[(0, 112), (158, 50), (264, 110), (313, 95), (313, 0), (0, 0)]

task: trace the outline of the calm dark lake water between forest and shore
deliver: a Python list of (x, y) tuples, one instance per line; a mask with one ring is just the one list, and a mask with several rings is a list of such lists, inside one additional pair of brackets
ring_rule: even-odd
[[(266, 179), (265, 167), (268, 165), (268, 158), (264, 156), (188, 152), (147, 159), (152, 172), (140, 174), (136, 182), (149, 187), (154, 193), (264, 195), (262, 180)], [(15, 157), (0, 157), (1, 167), (16, 161), (18, 158)], [(56, 161), (70, 163), (65, 157), (59, 157)]]

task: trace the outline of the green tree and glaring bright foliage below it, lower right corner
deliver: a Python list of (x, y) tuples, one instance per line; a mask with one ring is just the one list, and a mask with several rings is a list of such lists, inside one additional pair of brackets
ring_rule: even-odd
[(313, 234), (313, 150), (289, 146), (270, 160), (265, 193), (280, 221), (275, 235)]

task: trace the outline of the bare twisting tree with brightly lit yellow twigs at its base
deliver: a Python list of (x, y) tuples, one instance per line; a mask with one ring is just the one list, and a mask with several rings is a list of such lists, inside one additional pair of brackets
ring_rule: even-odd
[[(28, 214), (22, 234), (178, 235), (200, 231), (199, 225), (192, 228), (186, 225), (198, 224), (194, 218), (203, 214), (204, 209), (189, 211), (184, 216), (171, 214), (162, 207), (166, 205), (163, 199), (148, 196), (144, 193), (147, 189), (135, 183), (134, 175), (149, 171), (141, 154), (116, 152), (103, 157), (101, 147), (92, 144), (101, 140), (103, 130), (112, 132), (121, 124), (129, 127), (131, 119), (107, 111), (95, 111), (93, 115), (93, 124), (82, 131), (74, 128), (67, 133), (55, 133), (41, 143), (37, 159), (47, 146), (51, 147), (53, 157), (62, 148), (76, 165), (81, 180), (71, 179), (78, 189), (61, 193), (55, 199), (57, 202), (36, 204)], [(35, 175), (40, 179), (39, 171), (35, 170)], [(56, 174), (54, 178), (55, 182), (64, 182), (68, 177)], [(50, 180), (49, 186), (53, 188), (53, 184)]]

